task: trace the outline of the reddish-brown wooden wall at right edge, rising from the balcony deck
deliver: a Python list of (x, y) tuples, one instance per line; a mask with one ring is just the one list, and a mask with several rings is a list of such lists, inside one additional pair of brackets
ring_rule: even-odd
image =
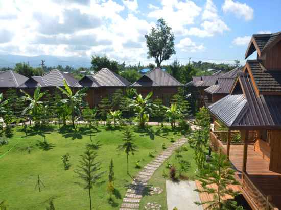
[(270, 136), (269, 170), (281, 173), (281, 131), (272, 130)]

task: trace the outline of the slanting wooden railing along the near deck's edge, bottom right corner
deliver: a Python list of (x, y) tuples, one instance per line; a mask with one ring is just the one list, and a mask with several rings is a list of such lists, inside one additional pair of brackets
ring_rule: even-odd
[(248, 198), (259, 210), (278, 210), (271, 201), (271, 196), (265, 196), (254, 183), (250, 180), (245, 172), (242, 173), (242, 189)]

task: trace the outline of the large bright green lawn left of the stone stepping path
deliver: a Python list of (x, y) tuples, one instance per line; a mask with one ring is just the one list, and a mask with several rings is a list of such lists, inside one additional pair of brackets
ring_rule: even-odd
[[(7, 200), (9, 209), (45, 209), (49, 200), (53, 199), (56, 209), (89, 209), (88, 191), (77, 185), (74, 169), (77, 169), (80, 155), (85, 151), (85, 144), (90, 143), (89, 130), (79, 126), (77, 132), (72, 130), (59, 130), (53, 127), (46, 132), (46, 140), (52, 144), (52, 149), (45, 151), (36, 146), (37, 141), (43, 141), (38, 132), (29, 131), (25, 136), (20, 131), (21, 127), (13, 128), (14, 136), (9, 144), (0, 146), (0, 156), (12, 150), (0, 158), (0, 201)], [(153, 158), (148, 153), (156, 150), (156, 154), (162, 151), (162, 143), (171, 144), (170, 138), (176, 136), (171, 130), (158, 133), (157, 126), (151, 126), (149, 132), (134, 130), (138, 151), (129, 156), (129, 171), (135, 175), (139, 170), (135, 168), (135, 161), (140, 160), (140, 165), (145, 166)], [(132, 182), (127, 175), (126, 154), (116, 150), (123, 143), (122, 128), (120, 130), (105, 130), (100, 125), (97, 130), (92, 130), (94, 140), (100, 140), (102, 146), (96, 150), (98, 160), (102, 162), (102, 170), (107, 171), (102, 178), (102, 183), (93, 187), (91, 191), (93, 209), (118, 209), (126, 192), (126, 186)], [(179, 135), (177, 136), (179, 137)], [(28, 143), (31, 145), (31, 153), (27, 151)], [(71, 167), (64, 170), (61, 156), (69, 153)], [(108, 180), (108, 167), (111, 158), (115, 172), (114, 202), (108, 203), (106, 185)], [(162, 167), (157, 171), (156, 177), (161, 177)], [(36, 187), (38, 175), (45, 187), (41, 192)], [(155, 176), (154, 176), (155, 177)], [(153, 179), (155, 186), (162, 186)], [(156, 182), (156, 183), (155, 183)], [(165, 201), (166, 202), (166, 201)]]

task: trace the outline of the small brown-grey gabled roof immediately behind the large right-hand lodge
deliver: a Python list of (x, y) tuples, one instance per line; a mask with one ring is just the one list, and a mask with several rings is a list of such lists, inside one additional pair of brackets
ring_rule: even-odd
[(229, 94), (234, 82), (234, 77), (220, 77), (215, 85), (206, 88), (205, 91), (210, 94)]

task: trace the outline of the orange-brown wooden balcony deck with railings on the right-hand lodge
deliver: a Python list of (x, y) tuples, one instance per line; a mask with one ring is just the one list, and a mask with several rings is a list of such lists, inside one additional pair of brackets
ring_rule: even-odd
[[(217, 132), (210, 132), (210, 146), (213, 150), (227, 155), (227, 144), (220, 141)], [(253, 143), (248, 144), (246, 172), (243, 172), (243, 144), (229, 146), (229, 160), (241, 183), (242, 193), (253, 209), (281, 209), (281, 174), (269, 170), (269, 161), (254, 151)]]

